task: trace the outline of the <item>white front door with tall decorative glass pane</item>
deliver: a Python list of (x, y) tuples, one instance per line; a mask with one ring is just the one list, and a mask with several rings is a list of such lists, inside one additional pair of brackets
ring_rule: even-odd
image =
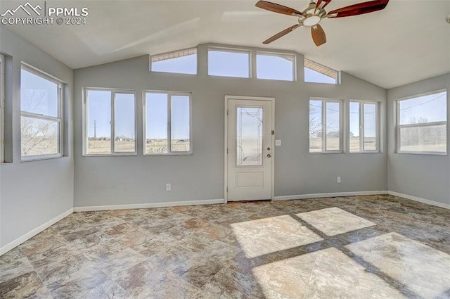
[(272, 197), (272, 100), (226, 97), (227, 201)]

